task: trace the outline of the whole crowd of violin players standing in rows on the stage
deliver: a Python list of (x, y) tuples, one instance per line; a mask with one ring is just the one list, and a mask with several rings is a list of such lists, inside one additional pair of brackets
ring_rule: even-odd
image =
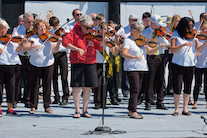
[[(129, 95), (130, 118), (143, 118), (137, 113), (137, 105), (143, 99), (144, 110), (151, 110), (152, 104), (157, 109), (168, 110), (163, 104), (166, 94), (174, 95), (173, 116), (190, 116), (187, 107), (192, 99), (193, 76), (192, 108), (196, 109), (203, 74), (203, 92), (207, 101), (206, 13), (201, 13), (200, 21), (196, 23), (190, 17), (168, 16), (165, 28), (159, 15), (148, 12), (143, 13), (142, 24), (138, 23), (135, 14), (131, 14), (126, 27), (113, 21), (106, 22), (103, 14), (82, 15), (79, 9), (75, 9), (72, 15), (74, 22), (60, 26), (55, 16), (47, 24), (36, 14), (28, 12), (19, 16), (19, 25), (11, 35), (7, 34), (8, 23), (0, 18), (0, 117), (3, 115), (1, 104), (4, 88), (8, 108), (6, 115), (19, 115), (12, 108), (16, 108), (20, 102), (22, 81), (26, 82), (23, 102), (26, 108), (31, 109), (30, 114), (35, 114), (38, 108), (40, 87), (45, 112), (53, 113), (50, 108), (53, 87), (52, 104), (67, 105), (71, 96), (75, 104), (73, 117), (80, 118), (82, 96), (81, 116), (91, 118), (87, 111), (91, 92), (94, 93), (94, 109), (107, 109), (107, 92), (112, 105), (121, 102), (118, 98), (121, 84), (123, 96)], [(68, 74), (69, 62), (71, 74)], [(169, 75), (165, 87), (167, 62)], [(58, 88), (59, 72), (62, 96)], [(183, 109), (180, 113), (182, 90)]]

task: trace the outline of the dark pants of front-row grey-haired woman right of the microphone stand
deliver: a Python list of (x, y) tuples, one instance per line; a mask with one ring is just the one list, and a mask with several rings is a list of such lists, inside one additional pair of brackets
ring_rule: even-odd
[(129, 79), (130, 85), (130, 98), (128, 103), (128, 110), (136, 112), (138, 94), (142, 87), (144, 73), (138, 71), (127, 71), (126, 75)]

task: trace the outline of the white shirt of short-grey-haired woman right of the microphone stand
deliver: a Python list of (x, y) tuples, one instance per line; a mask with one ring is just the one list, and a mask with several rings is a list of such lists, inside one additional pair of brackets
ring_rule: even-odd
[(128, 54), (133, 56), (142, 56), (142, 60), (139, 59), (127, 59), (124, 60), (124, 71), (148, 71), (147, 58), (146, 58), (146, 47), (139, 47), (135, 43), (132, 37), (126, 38), (122, 45), (122, 50), (128, 49)]

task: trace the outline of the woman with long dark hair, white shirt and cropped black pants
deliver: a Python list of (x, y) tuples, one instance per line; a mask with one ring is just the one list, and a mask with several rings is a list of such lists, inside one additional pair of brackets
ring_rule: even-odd
[[(192, 39), (188, 39), (187, 32), (190, 32), (194, 27), (194, 21), (191, 18), (184, 17), (180, 20), (176, 30), (171, 37), (171, 48), (173, 53), (173, 91), (175, 111), (173, 116), (179, 115), (179, 104), (181, 98), (182, 82), (184, 82), (183, 93), (183, 115), (190, 116), (191, 113), (187, 110), (187, 105), (191, 93), (191, 83), (193, 79), (193, 66), (196, 64), (196, 45), (192, 44)], [(190, 51), (188, 51), (189, 47)]]

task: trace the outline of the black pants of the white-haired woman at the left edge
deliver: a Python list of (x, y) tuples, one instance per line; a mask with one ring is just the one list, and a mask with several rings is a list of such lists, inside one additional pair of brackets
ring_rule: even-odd
[(14, 103), (15, 65), (0, 65), (0, 103), (3, 102), (3, 84), (6, 88), (7, 103)]

